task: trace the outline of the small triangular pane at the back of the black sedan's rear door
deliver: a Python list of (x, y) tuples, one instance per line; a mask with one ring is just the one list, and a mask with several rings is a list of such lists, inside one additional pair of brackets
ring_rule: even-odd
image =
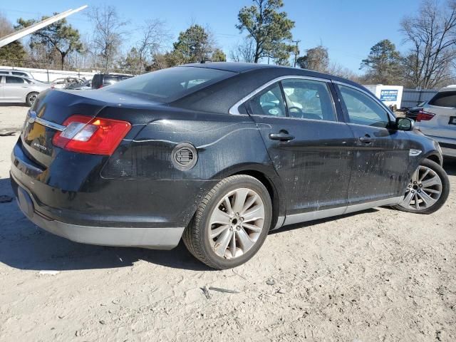
[(279, 83), (269, 86), (247, 103), (249, 113), (254, 115), (286, 116), (285, 101)]

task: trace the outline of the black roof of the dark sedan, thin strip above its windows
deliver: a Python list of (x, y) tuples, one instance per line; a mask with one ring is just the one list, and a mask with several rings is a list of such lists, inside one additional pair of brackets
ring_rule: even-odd
[(335, 81), (341, 81), (344, 83), (352, 84), (358, 88), (363, 88), (363, 86), (350, 81), (346, 78), (341, 78), (338, 76), (329, 75), (327, 73), (319, 73), (318, 71), (311, 71), (301, 68), (292, 68), (290, 66), (275, 66), (271, 64), (261, 64), (261, 63), (237, 63), (237, 62), (205, 62), (205, 63), (190, 63), (184, 64), (179, 67), (194, 67), (194, 68), (208, 68), (208, 69), (217, 69), (222, 71), (231, 71), (233, 73), (247, 73), (251, 71), (258, 71), (259, 69), (264, 70), (265, 73), (276, 73), (276, 71), (281, 71), (281, 73), (286, 75), (296, 75), (296, 76), (311, 76), (316, 78), (327, 78)]

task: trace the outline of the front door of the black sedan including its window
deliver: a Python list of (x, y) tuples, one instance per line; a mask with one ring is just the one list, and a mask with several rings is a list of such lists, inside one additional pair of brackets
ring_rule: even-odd
[(410, 177), (407, 133), (392, 128), (388, 110), (367, 91), (339, 83), (338, 93), (355, 136), (349, 203), (400, 197)]

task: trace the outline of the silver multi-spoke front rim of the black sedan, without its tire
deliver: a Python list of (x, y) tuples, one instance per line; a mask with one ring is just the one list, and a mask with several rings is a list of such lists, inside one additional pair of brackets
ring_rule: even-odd
[(405, 191), (402, 207), (413, 210), (424, 210), (432, 207), (442, 194), (442, 180), (437, 173), (420, 165), (413, 172), (412, 179)]

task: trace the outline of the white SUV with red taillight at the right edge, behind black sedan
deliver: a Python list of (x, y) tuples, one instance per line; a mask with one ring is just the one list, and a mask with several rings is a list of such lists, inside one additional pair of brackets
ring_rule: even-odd
[(443, 155), (456, 157), (456, 85), (440, 89), (423, 105), (416, 126), (439, 142)]

